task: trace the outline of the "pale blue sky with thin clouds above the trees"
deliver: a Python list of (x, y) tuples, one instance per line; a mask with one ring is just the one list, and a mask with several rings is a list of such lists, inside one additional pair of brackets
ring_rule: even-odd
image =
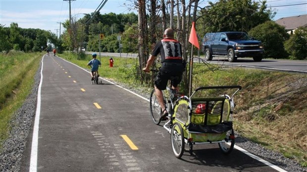
[[(132, 9), (132, 1), (107, 0), (100, 13), (137, 13)], [(200, 0), (199, 5), (206, 6), (208, 1), (218, 0)], [(101, 2), (102, 0), (71, 0), (71, 16), (76, 19), (82, 18), (83, 13), (94, 12)], [(307, 0), (267, 0), (267, 6), (277, 12), (273, 20), (307, 14)], [(9, 27), (14, 22), (21, 28), (50, 30), (59, 35), (59, 23), (67, 19), (69, 0), (0, 0), (0, 24), (4, 27)]]

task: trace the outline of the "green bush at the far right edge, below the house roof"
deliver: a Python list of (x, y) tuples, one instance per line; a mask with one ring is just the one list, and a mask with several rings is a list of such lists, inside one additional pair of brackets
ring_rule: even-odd
[(290, 39), (285, 42), (285, 49), (292, 59), (307, 59), (307, 28), (300, 27), (294, 31)]

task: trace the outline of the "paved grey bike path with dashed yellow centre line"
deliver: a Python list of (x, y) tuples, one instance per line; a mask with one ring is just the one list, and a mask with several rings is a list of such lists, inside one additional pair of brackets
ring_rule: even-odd
[(193, 156), (177, 159), (146, 99), (105, 80), (92, 85), (87, 71), (61, 58), (42, 62), (21, 172), (276, 172), (237, 149), (224, 155), (217, 144), (196, 145)]

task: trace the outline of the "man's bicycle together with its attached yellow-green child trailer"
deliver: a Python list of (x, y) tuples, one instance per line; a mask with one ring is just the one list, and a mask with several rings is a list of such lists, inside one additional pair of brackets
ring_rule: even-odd
[[(193, 61), (193, 59), (192, 59)], [(190, 68), (192, 75), (192, 68)], [(191, 76), (190, 76), (191, 77)], [(242, 89), (241, 86), (201, 86), (193, 92), (190, 81), (191, 95), (181, 95), (171, 98), (172, 91), (166, 90), (169, 96), (163, 94), (165, 104), (169, 106), (168, 121), (163, 128), (171, 135), (171, 148), (176, 158), (181, 158), (185, 151), (185, 144), (189, 145), (190, 156), (193, 155), (193, 146), (199, 144), (217, 143), (224, 154), (232, 152), (235, 144), (233, 129), (234, 95)], [(236, 89), (232, 94), (217, 94), (210, 89)], [(205, 91), (202, 94), (201, 90)], [(217, 91), (217, 92), (218, 92)], [(213, 96), (212, 96), (213, 95)], [(159, 124), (156, 116), (160, 117), (162, 109), (155, 97), (155, 91), (150, 96), (150, 111), (154, 124)]]

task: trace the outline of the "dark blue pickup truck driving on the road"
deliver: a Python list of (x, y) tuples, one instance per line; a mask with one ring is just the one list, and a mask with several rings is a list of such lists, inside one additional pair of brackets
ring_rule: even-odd
[(260, 41), (250, 38), (245, 32), (207, 33), (202, 41), (205, 60), (214, 56), (227, 56), (229, 62), (238, 57), (253, 57), (258, 62), (263, 57), (263, 46)]

